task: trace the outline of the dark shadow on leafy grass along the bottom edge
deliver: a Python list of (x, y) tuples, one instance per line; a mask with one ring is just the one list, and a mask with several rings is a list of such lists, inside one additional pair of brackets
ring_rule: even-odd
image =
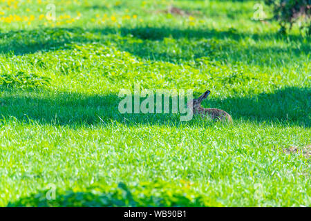
[[(140, 186), (144, 190), (148, 187)], [(154, 188), (154, 187), (153, 187)], [(37, 194), (21, 198), (16, 202), (9, 202), (8, 207), (120, 207), (120, 206), (208, 206), (202, 198), (189, 199), (185, 193), (162, 193), (154, 196), (140, 190), (139, 193), (131, 193), (131, 190), (123, 183), (119, 183), (117, 188), (100, 192), (98, 188), (88, 188), (84, 192), (66, 191), (66, 193), (53, 193), (41, 191)], [(144, 193), (142, 193), (144, 192)], [(146, 195), (147, 193), (147, 195)], [(47, 196), (50, 200), (47, 199)], [(216, 204), (216, 203), (215, 203)], [(219, 206), (220, 204), (218, 204)]]

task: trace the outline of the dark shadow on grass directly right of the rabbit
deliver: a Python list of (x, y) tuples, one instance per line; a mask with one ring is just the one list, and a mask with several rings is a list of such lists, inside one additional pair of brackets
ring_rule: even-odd
[[(226, 108), (234, 118), (258, 122), (294, 122), (310, 127), (311, 89), (287, 87), (252, 97), (211, 99), (208, 106)], [(204, 105), (204, 104), (203, 104)]]

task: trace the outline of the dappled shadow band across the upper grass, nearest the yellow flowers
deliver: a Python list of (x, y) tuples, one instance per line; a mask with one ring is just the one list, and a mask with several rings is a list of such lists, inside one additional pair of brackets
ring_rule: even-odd
[[(118, 37), (118, 36), (121, 36)], [(284, 39), (299, 42), (299, 48), (279, 45), (241, 46), (239, 39)], [(172, 39), (167, 42), (166, 38)], [(288, 35), (286, 37), (272, 33), (270, 35), (252, 35), (237, 32), (209, 29), (180, 29), (171, 27), (138, 27), (138, 28), (38, 28), (35, 30), (11, 31), (0, 34), (0, 53), (25, 55), (39, 51), (50, 51), (70, 48), (70, 44), (88, 44), (107, 42), (119, 50), (131, 52), (143, 59), (156, 61), (188, 61), (199, 57), (233, 61), (245, 61), (249, 58), (256, 64), (271, 62), (277, 59), (292, 59), (310, 52), (308, 41), (303, 37)], [(180, 52), (176, 51), (181, 50)], [(288, 54), (288, 57), (283, 55)], [(282, 56), (280, 56), (282, 55)]]

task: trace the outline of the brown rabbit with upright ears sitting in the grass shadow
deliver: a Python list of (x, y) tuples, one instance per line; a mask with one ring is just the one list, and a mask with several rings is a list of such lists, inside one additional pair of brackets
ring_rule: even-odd
[(201, 102), (203, 99), (207, 98), (207, 96), (211, 93), (209, 90), (205, 91), (204, 94), (202, 94), (197, 99), (193, 99), (190, 102), (188, 102), (187, 106), (192, 109), (192, 112), (197, 115), (209, 116), (211, 119), (218, 119), (220, 121), (227, 120), (229, 122), (232, 122), (232, 117), (229, 115), (229, 113), (217, 109), (217, 108), (202, 108)]

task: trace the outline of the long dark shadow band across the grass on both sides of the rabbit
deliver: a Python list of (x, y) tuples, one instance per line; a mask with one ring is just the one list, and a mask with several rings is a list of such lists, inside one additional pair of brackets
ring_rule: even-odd
[[(194, 96), (197, 95), (198, 93)], [(202, 102), (202, 106), (223, 109), (231, 114), (234, 120), (247, 119), (280, 124), (294, 123), (309, 127), (310, 98), (310, 88), (292, 87), (276, 90), (272, 94), (263, 93), (254, 97), (227, 99), (210, 97)], [(180, 122), (180, 115), (172, 113), (121, 114), (118, 111), (121, 99), (115, 94), (82, 95), (78, 93), (55, 94), (37, 90), (2, 90), (0, 116), (4, 119), (15, 117), (23, 122), (34, 121), (40, 124), (68, 126), (91, 126), (94, 124), (111, 124), (111, 122), (126, 126), (140, 124), (169, 126), (187, 124), (191, 126), (196, 124), (196, 120)]]

